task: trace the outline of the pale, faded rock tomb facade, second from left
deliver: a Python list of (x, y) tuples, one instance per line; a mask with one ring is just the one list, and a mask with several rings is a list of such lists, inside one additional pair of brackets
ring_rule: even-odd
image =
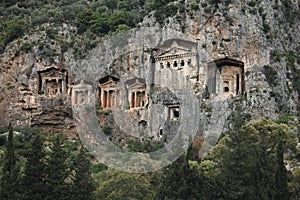
[(72, 105), (89, 104), (92, 99), (93, 86), (91, 83), (81, 80), (75, 82), (72, 87)]

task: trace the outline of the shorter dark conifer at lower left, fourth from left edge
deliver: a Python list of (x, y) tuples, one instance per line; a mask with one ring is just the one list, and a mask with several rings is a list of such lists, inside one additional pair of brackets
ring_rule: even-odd
[(91, 162), (85, 149), (81, 147), (80, 152), (75, 160), (75, 176), (73, 185), (73, 200), (91, 200), (95, 190), (91, 177)]

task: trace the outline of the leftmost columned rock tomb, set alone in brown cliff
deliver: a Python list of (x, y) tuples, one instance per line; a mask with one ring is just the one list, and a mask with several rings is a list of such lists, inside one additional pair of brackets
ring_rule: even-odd
[(68, 72), (56, 68), (39, 71), (39, 94), (55, 97), (67, 93)]

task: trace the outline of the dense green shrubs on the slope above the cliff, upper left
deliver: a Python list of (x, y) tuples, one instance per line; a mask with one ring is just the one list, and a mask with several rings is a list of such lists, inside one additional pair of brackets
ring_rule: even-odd
[[(137, 23), (157, 10), (165, 17), (163, 9), (173, 0), (56, 0), (56, 1), (2, 1), (0, 3), (0, 52), (5, 46), (43, 24), (51, 24), (49, 37), (57, 35), (56, 27), (63, 23), (76, 27), (76, 34), (95, 38), (117, 34), (135, 27)], [(182, 1), (183, 6), (183, 1)], [(173, 8), (177, 12), (177, 7)], [(28, 50), (28, 49), (27, 49)]]

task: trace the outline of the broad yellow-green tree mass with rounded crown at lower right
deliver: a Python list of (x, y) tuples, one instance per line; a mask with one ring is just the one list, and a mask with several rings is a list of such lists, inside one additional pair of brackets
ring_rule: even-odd
[(267, 119), (233, 128), (206, 158), (219, 171), (210, 188), (217, 196), (209, 199), (287, 198), (282, 144), (288, 130)]

